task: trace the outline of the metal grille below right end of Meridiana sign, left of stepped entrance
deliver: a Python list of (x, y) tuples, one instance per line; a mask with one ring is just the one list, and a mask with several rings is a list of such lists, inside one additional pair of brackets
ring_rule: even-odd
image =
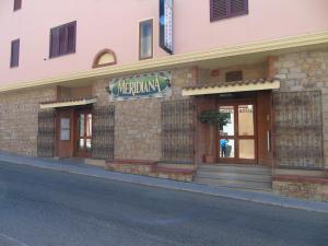
[(162, 161), (167, 163), (192, 163), (194, 133), (192, 101), (163, 102)]

